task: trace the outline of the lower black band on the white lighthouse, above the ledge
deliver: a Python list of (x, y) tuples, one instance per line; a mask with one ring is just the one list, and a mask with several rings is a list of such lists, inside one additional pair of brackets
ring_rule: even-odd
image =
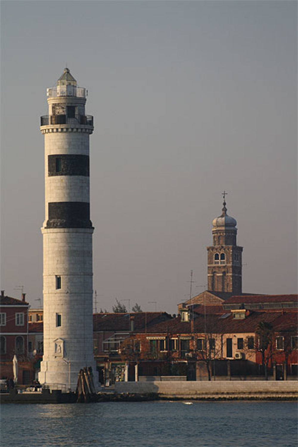
[(49, 202), (46, 228), (92, 228), (90, 203)]

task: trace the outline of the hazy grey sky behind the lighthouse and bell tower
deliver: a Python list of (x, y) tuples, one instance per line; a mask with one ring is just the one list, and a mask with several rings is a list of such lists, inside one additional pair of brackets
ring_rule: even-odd
[[(2, 1), (1, 289), (42, 298), (46, 88), (89, 92), (97, 308), (176, 312), (222, 190), (243, 291), (297, 290), (296, 1)], [(197, 288), (195, 286), (198, 286)], [(124, 304), (128, 307), (128, 301)]]

